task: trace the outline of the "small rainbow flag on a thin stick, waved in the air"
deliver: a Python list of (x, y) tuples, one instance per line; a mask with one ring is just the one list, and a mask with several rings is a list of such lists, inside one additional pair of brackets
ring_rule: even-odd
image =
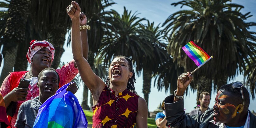
[(202, 66), (204, 62), (207, 62), (211, 57), (193, 41), (187, 43), (182, 47), (183, 51), (191, 58), (198, 67)]

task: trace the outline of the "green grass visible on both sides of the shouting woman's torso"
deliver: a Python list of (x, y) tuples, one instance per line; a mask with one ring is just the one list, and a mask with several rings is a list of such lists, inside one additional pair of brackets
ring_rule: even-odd
[[(84, 114), (86, 116), (86, 119), (88, 121), (88, 127), (92, 127), (93, 124), (93, 112), (84, 110)], [(157, 126), (155, 125), (155, 119), (147, 118), (147, 126), (149, 128), (156, 128)]]

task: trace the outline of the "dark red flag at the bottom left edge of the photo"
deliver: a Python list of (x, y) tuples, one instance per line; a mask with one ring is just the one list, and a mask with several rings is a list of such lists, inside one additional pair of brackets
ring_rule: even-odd
[[(11, 124), (10, 124), (8, 118), (7, 118), (4, 98), (3, 98), (3, 96), (1, 94), (0, 94), (0, 113), (1, 113), (0, 114), (0, 122), (1, 122), (1, 124), (2, 124), (2, 122), (4, 122), (6, 125), (11, 126)], [(4, 124), (2, 124), (2, 125), (4, 126)]]

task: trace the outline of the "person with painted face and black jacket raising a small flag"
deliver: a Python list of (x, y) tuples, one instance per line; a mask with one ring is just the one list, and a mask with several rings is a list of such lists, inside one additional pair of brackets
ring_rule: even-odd
[(249, 110), (249, 92), (241, 82), (220, 87), (213, 109), (201, 115), (187, 115), (183, 95), (193, 79), (190, 72), (178, 77), (178, 88), (164, 100), (166, 120), (175, 128), (255, 128), (256, 117)]

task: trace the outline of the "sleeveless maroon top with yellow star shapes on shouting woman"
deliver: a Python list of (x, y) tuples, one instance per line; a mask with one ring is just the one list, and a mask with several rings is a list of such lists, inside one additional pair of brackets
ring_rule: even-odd
[(105, 86), (98, 103), (92, 107), (93, 128), (133, 128), (136, 124), (139, 96), (125, 89), (115, 92)]

